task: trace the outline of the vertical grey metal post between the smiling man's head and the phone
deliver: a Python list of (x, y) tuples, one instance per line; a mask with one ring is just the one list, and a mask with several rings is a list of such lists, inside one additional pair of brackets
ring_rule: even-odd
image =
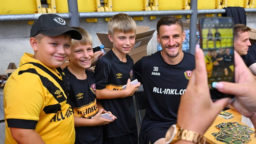
[[(190, 16), (190, 28), (189, 28), (189, 53), (195, 54), (196, 47), (196, 34), (197, 34), (197, 0), (192, 0), (190, 4), (192, 14)], [(192, 36), (192, 37), (191, 37)]]

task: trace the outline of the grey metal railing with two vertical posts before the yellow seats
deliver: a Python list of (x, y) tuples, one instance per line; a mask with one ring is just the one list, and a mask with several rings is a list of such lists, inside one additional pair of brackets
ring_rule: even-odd
[[(68, 0), (69, 13), (57, 13), (64, 19), (70, 20), (70, 26), (80, 26), (80, 19), (88, 18), (110, 18), (120, 12), (78, 12), (77, 1)], [(198, 14), (226, 13), (225, 9), (197, 9), (197, 0), (191, 1), (190, 10), (159, 10), (159, 11), (122, 11), (131, 17), (138, 16), (165, 16), (165, 15), (191, 15), (190, 30), (192, 36), (196, 36)], [(246, 12), (256, 12), (256, 8), (245, 8)], [(13, 14), (0, 15), (0, 22), (35, 21), (41, 14)], [(196, 37), (189, 37), (189, 52), (195, 54)]]

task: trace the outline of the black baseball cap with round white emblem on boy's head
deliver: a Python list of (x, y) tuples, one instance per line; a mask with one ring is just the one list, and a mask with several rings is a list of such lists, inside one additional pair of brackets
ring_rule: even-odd
[(58, 35), (69, 32), (72, 39), (81, 40), (81, 33), (66, 23), (66, 21), (56, 14), (42, 14), (34, 22), (30, 29), (30, 37), (42, 33), (50, 37), (56, 37)]

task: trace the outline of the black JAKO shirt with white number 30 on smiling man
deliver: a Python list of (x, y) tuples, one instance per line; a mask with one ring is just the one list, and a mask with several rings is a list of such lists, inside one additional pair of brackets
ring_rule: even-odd
[(147, 96), (146, 114), (142, 121), (144, 130), (176, 123), (181, 95), (186, 91), (195, 69), (195, 57), (183, 53), (183, 59), (176, 65), (167, 64), (161, 51), (142, 57), (135, 63), (136, 78)]

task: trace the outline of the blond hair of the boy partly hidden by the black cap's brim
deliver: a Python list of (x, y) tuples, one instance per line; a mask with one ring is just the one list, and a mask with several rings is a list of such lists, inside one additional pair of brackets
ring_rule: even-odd
[(89, 35), (89, 33), (85, 29), (83, 29), (81, 27), (71, 27), (71, 28), (78, 30), (82, 35), (81, 40), (74, 40), (74, 39), (71, 40), (71, 46), (72, 47), (77, 46), (78, 44), (81, 44), (81, 45), (90, 44), (90, 45), (92, 45), (91, 36)]

